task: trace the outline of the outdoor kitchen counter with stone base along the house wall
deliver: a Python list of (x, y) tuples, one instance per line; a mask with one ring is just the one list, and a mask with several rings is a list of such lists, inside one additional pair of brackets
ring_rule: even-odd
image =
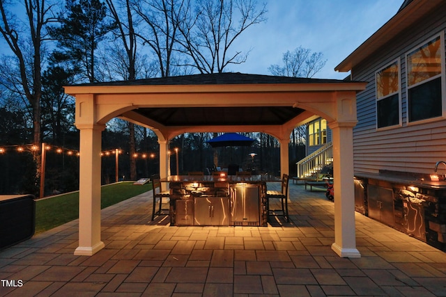
[(355, 173), (355, 210), (446, 251), (446, 182), (429, 175)]

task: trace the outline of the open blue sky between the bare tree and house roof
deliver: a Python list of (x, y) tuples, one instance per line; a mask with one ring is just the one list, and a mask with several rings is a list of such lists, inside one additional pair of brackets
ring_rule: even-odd
[[(259, 0), (262, 2), (262, 0)], [(352, 51), (397, 13), (403, 0), (268, 0), (268, 21), (241, 35), (234, 49), (251, 49), (247, 62), (229, 70), (270, 74), (282, 54), (302, 46), (321, 51), (327, 63), (315, 78), (344, 79), (335, 72)]]

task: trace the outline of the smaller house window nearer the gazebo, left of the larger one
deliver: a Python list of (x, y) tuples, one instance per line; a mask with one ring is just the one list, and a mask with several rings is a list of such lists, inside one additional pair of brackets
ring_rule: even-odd
[(376, 72), (376, 125), (378, 128), (399, 125), (399, 63)]

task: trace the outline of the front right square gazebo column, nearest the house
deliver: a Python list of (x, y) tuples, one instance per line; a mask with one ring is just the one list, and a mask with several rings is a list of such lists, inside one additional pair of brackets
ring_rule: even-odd
[(353, 185), (353, 127), (356, 121), (331, 122), (334, 180), (334, 243), (339, 257), (361, 257), (356, 248)]

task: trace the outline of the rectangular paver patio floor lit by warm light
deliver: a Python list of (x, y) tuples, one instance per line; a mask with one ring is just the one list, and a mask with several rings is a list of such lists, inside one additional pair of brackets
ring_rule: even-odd
[(2, 250), (0, 296), (446, 296), (445, 252), (362, 214), (362, 257), (338, 257), (323, 192), (290, 184), (290, 223), (268, 227), (151, 222), (151, 193), (102, 210), (91, 257), (73, 255), (77, 220)]

